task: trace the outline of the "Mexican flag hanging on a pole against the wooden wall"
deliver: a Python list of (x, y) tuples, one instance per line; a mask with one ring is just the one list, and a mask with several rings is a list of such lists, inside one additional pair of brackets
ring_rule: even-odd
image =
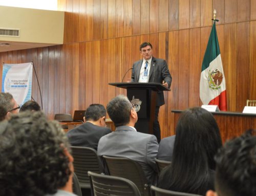
[(204, 105), (218, 105), (221, 111), (227, 111), (226, 82), (215, 21), (202, 64), (200, 99)]

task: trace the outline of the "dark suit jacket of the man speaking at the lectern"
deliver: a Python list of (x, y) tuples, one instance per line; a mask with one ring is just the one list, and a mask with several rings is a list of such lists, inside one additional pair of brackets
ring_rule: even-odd
[[(154, 61), (156, 61), (155, 66), (153, 66)], [(133, 64), (133, 72), (132, 72), (132, 82), (139, 82), (139, 77), (140, 77), (140, 69), (142, 66), (143, 59), (136, 61)], [(155, 69), (154, 69), (155, 67)], [(155, 71), (154, 71), (155, 70)], [(155, 74), (154, 74), (155, 72)], [(149, 79), (148, 82), (157, 82), (157, 83), (162, 83), (164, 80), (165, 82), (168, 83), (168, 88), (170, 88), (170, 84), (172, 83), (172, 76), (170, 75), (170, 72), (168, 70), (167, 63), (164, 59), (161, 58), (155, 58), (152, 57), (151, 61), (151, 67), (150, 67), (150, 73), (148, 75)], [(164, 104), (164, 96), (163, 92), (159, 91), (157, 93), (157, 106), (161, 106)]]

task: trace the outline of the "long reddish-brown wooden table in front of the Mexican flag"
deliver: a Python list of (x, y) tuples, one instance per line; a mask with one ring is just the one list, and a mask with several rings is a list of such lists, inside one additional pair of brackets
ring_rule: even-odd
[[(182, 110), (172, 110), (174, 113), (175, 129)], [(256, 129), (256, 114), (241, 112), (211, 112), (220, 128), (222, 141), (240, 136), (249, 128)]]

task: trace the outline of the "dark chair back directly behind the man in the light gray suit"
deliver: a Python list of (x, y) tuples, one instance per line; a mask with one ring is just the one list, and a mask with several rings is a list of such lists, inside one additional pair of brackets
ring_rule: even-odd
[(117, 176), (132, 181), (138, 187), (141, 195), (151, 195), (150, 183), (140, 164), (123, 157), (103, 156), (111, 176)]

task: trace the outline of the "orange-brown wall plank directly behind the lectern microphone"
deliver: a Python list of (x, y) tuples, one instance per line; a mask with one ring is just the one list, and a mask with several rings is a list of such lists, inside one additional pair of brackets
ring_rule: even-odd
[[(129, 69), (132, 68), (133, 66), (132, 51), (134, 50), (134, 48), (132, 46), (133, 46), (132, 37), (131, 36), (124, 37), (123, 38), (123, 72), (121, 74), (122, 78), (124, 77), (123, 82), (131, 80), (133, 70), (129, 70)], [(126, 72), (127, 74), (125, 75)], [(123, 90), (123, 93), (126, 94), (126, 90)]]

